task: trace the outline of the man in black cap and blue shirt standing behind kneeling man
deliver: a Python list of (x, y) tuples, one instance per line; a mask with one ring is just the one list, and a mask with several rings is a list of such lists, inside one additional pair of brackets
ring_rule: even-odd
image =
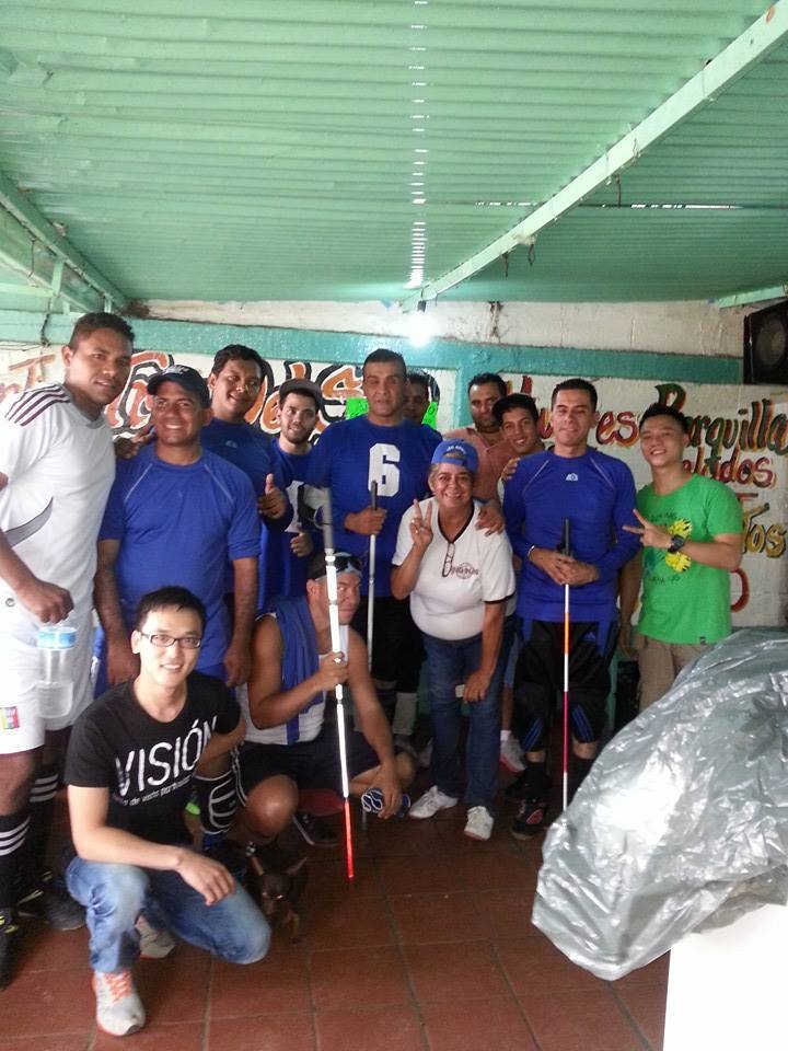
[[(200, 446), (210, 397), (195, 369), (173, 365), (148, 382), (155, 442), (120, 460), (99, 534), (95, 602), (109, 685), (137, 674), (129, 635), (140, 598), (163, 585), (188, 588), (208, 624), (197, 669), (245, 682), (257, 603), (259, 519), (248, 477)], [(224, 604), (233, 573), (233, 623)]]

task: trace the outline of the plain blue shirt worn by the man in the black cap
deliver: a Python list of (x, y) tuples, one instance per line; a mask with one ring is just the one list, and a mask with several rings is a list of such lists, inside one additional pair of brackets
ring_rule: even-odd
[(206, 450), (195, 463), (178, 465), (160, 460), (149, 446), (134, 460), (118, 461), (99, 539), (120, 542), (115, 577), (127, 628), (146, 592), (188, 588), (208, 614), (197, 668), (221, 666), (230, 642), (225, 568), (259, 551), (248, 477)]

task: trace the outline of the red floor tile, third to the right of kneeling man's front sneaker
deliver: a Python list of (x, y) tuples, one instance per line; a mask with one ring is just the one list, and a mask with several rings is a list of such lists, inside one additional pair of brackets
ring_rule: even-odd
[(310, 955), (312, 996), (321, 1009), (408, 1004), (410, 989), (393, 946), (333, 949)]

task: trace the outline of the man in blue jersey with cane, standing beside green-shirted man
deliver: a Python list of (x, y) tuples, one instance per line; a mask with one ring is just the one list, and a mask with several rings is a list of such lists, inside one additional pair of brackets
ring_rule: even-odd
[[(637, 553), (635, 483), (625, 463), (590, 449), (596, 390), (572, 379), (553, 391), (555, 444), (520, 461), (506, 486), (503, 513), (522, 558), (518, 614), (523, 646), (514, 701), (525, 753), (528, 798), (512, 825), (517, 839), (538, 832), (547, 811), (546, 749), (563, 685), (564, 588), (570, 587), (569, 717), (572, 793), (591, 769), (605, 724), (609, 665), (617, 636), (618, 570)], [(570, 551), (563, 552), (565, 520)]]

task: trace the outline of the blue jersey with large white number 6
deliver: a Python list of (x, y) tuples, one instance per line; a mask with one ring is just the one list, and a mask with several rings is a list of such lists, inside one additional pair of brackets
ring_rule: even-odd
[[(334, 506), (337, 551), (366, 556), (369, 536), (345, 529), (345, 516), (369, 507), (369, 487), (378, 483), (378, 505), (386, 511), (378, 535), (375, 594), (391, 594), (391, 564), (399, 519), (414, 500), (428, 492), (427, 475), (440, 435), (425, 424), (403, 420), (393, 427), (371, 424), (367, 416), (332, 424), (312, 453), (306, 481), (328, 486)], [(367, 593), (367, 571), (362, 592)]]

